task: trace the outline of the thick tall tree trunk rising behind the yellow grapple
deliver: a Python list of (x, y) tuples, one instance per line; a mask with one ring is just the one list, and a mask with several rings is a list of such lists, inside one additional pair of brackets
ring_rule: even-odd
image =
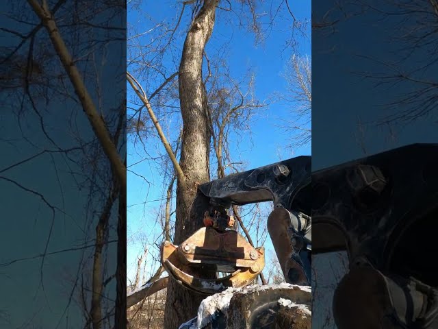
[[(205, 0), (185, 38), (179, 66), (179, 99), (183, 119), (180, 166), (185, 181), (177, 181), (174, 243), (179, 244), (203, 226), (208, 200), (197, 192), (198, 184), (209, 182), (210, 132), (207, 95), (202, 79), (204, 47), (214, 27), (218, 0)], [(191, 273), (199, 276), (199, 273)], [(164, 328), (176, 329), (195, 317), (203, 300), (199, 295), (170, 280), (166, 297)]]

